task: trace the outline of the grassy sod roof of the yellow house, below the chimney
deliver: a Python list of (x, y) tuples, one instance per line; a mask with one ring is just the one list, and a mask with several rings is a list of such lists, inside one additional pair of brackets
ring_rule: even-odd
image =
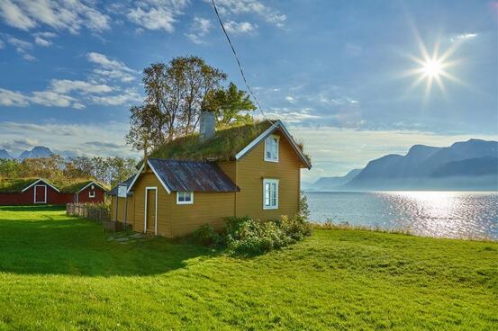
[(200, 142), (197, 133), (180, 137), (157, 148), (149, 157), (193, 161), (230, 161), (270, 126), (268, 121), (259, 121), (217, 130), (212, 139), (204, 142)]

